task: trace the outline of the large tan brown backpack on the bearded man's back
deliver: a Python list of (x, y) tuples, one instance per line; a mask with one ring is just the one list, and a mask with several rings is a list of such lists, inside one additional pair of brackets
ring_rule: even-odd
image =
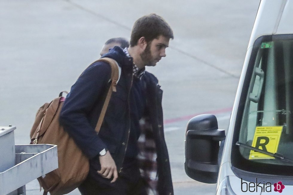
[[(116, 92), (120, 67), (111, 58), (101, 58), (97, 61), (107, 62), (112, 71), (111, 85), (95, 128), (99, 132), (111, 94)], [(31, 144), (57, 145), (58, 168), (38, 178), (40, 186), (44, 188), (44, 194), (50, 192), (51, 195), (62, 195), (73, 191), (86, 179), (89, 171), (88, 158), (59, 124), (59, 115), (64, 100), (65, 97), (62, 97), (61, 92), (59, 97), (40, 107), (30, 131)]]

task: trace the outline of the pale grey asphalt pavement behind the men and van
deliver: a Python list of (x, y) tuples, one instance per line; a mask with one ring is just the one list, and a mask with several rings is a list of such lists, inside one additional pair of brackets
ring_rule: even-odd
[[(37, 109), (70, 90), (104, 42), (130, 37), (139, 17), (157, 13), (173, 28), (167, 57), (147, 70), (164, 90), (164, 126), (175, 194), (215, 194), (216, 184), (184, 172), (188, 120), (217, 116), (226, 129), (259, 0), (0, 0), (0, 126), (28, 144)], [(22, 177), (22, 176), (20, 176)], [(36, 180), (27, 195), (42, 194)], [(77, 195), (77, 190), (70, 193)]]

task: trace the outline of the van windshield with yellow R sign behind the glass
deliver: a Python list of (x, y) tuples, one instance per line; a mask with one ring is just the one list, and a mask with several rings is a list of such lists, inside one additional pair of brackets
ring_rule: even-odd
[[(293, 159), (293, 39), (270, 37), (257, 45), (254, 67), (247, 72), (251, 78), (238, 142)], [(237, 150), (249, 163), (261, 166), (261, 173), (266, 172), (266, 165), (293, 166), (248, 148)]]

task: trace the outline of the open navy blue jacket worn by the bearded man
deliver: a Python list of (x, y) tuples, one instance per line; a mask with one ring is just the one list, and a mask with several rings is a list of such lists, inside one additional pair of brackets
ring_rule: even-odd
[[(64, 102), (60, 123), (74, 138), (82, 151), (92, 159), (103, 148), (108, 148), (117, 170), (123, 169), (123, 159), (130, 132), (129, 93), (132, 86), (132, 58), (127, 58), (120, 47), (114, 47), (103, 57), (113, 58), (122, 69), (117, 92), (112, 93), (99, 134), (94, 128), (102, 109), (105, 92), (109, 88), (111, 68), (104, 62), (89, 66), (71, 87)], [(158, 192), (173, 194), (169, 156), (164, 139), (162, 90), (158, 80), (149, 72), (142, 76), (146, 90), (145, 117), (151, 123), (157, 152)], [(91, 171), (91, 170), (90, 170)]]

